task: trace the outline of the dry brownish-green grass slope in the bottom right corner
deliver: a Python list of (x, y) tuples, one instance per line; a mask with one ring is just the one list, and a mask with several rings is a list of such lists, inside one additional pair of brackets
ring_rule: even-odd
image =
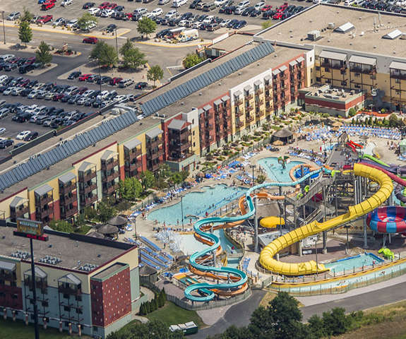
[(376, 307), (365, 311), (365, 314), (385, 316), (380, 323), (364, 325), (356, 331), (334, 338), (340, 339), (405, 339), (406, 338), (406, 301), (396, 302), (387, 306)]

